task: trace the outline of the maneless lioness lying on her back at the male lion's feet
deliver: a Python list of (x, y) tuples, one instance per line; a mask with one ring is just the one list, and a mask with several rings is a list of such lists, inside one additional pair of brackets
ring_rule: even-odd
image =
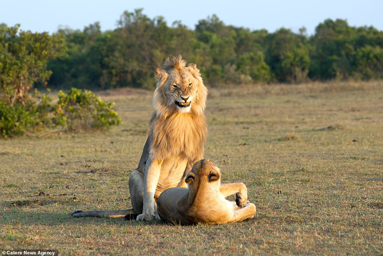
[[(254, 216), (256, 208), (247, 201), (243, 183), (221, 185), (221, 173), (209, 160), (196, 162), (186, 176), (186, 188), (170, 188), (158, 198), (161, 219), (175, 224), (217, 224), (245, 220)], [(236, 193), (236, 204), (225, 197)]]

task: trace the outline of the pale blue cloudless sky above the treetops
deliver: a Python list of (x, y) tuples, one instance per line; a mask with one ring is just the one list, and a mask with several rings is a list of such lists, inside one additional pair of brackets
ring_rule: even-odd
[(21, 24), (22, 30), (56, 32), (59, 26), (82, 30), (99, 21), (103, 31), (116, 28), (124, 11), (143, 8), (149, 18), (163, 16), (168, 26), (181, 21), (190, 29), (216, 14), (226, 25), (274, 32), (281, 27), (309, 34), (327, 18), (346, 19), (351, 26), (383, 30), (383, 0), (0, 0), (0, 23)]

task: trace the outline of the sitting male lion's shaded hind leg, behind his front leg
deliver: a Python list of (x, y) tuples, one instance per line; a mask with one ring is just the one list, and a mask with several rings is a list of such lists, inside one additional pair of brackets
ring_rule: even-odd
[(134, 212), (141, 214), (144, 205), (144, 175), (137, 169), (129, 177), (129, 193)]

